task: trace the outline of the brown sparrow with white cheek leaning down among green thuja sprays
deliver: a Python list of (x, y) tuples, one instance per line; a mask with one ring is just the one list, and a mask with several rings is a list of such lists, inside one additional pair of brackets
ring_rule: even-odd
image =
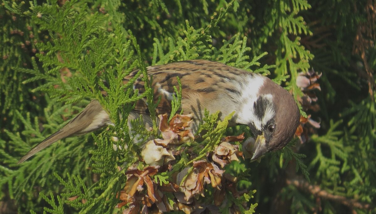
[[(139, 73), (134, 70), (123, 78), (126, 84)], [(234, 112), (228, 126), (244, 124), (254, 138), (252, 146), (244, 150), (251, 161), (269, 151), (283, 148), (294, 136), (299, 125), (300, 111), (294, 97), (270, 78), (248, 72), (223, 63), (208, 60), (185, 60), (149, 66), (147, 75), (152, 76), (154, 101), (158, 99), (156, 115), (171, 112), (174, 86), (181, 81), (181, 109), (184, 114), (193, 114), (191, 130), (197, 130), (207, 109), (210, 114), (220, 111), (221, 120)], [(133, 83), (133, 90), (145, 91), (143, 75)], [(107, 96), (106, 91), (102, 91)], [(143, 123), (152, 127), (152, 119), (146, 99), (136, 101), (128, 119), (143, 115)], [(83, 135), (102, 127), (114, 125), (98, 100), (92, 100), (82, 112), (57, 132), (32, 148), (18, 163), (29, 159), (35, 153), (54, 142), (72, 135)]]

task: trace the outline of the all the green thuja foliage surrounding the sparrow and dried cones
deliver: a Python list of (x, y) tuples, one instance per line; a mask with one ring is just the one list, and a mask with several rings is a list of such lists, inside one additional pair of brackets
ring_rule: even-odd
[[(241, 210), (244, 213), (374, 213), (374, 206), (349, 207), (286, 186), (287, 180), (299, 178), (328, 195), (362, 204), (372, 205), (376, 198), (376, 48), (370, 5), (374, 2), (3, 0), (0, 200), (15, 200), (18, 213), (122, 212), (114, 207), (126, 169), (138, 161), (139, 145), (157, 134), (155, 120), (153, 131), (146, 130), (140, 118), (127, 121), (134, 102), (143, 97), (154, 114), (157, 104), (146, 66), (201, 58), (269, 75), (298, 100), (306, 93), (296, 85), (299, 73), (311, 66), (322, 73), (322, 92), (316, 91), (321, 110), (300, 108), (306, 118), (320, 118), (321, 128), (306, 123), (309, 140), (303, 144), (290, 142), (260, 162), (227, 165), (226, 173), (239, 179), (239, 190), (257, 192), (233, 198), (221, 208), (223, 213), (243, 203), (249, 208)], [(135, 69), (138, 74), (124, 85), (121, 77)], [(141, 74), (146, 91), (138, 94), (132, 83)], [(180, 82), (174, 89), (172, 105), (179, 112)], [(91, 99), (99, 100), (115, 126), (63, 139), (16, 165)], [(205, 157), (223, 136), (244, 132), (252, 137), (247, 127), (226, 129), (228, 117), (218, 123), (218, 114), (205, 116), (200, 125), (200, 132), (208, 130), (203, 140), (182, 145), (192, 148), (195, 160)], [(134, 128), (131, 135), (128, 123)], [(182, 153), (170, 174), (157, 174), (153, 180), (166, 184), (191, 163), (192, 157)], [(206, 201), (213, 201), (211, 190), (205, 194)], [(285, 206), (278, 207), (276, 201)]]

